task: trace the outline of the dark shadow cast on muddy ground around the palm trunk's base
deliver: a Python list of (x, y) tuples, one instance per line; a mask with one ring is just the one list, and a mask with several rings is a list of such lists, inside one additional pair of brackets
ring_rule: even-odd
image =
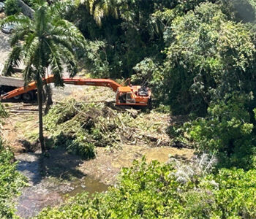
[(53, 148), (53, 142), (53, 139), (45, 138), (49, 150), (42, 155), (39, 142), (20, 140), (26, 153), (16, 156), (19, 161), (18, 170), (28, 177), (33, 185), (40, 183), (43, 177), (74, 180), (74, 178), (80, 179), (86, 176), (78, 169), (78, 166), (83, 164), (83, 159), (79, 155), (67, 152), (64, 147), (50, 149)]

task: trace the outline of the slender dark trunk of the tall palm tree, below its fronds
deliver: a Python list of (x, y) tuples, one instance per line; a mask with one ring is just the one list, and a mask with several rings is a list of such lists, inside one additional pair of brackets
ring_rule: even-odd
[(41, 145), (42, 153), (45, 153), (45, 139), (42, 127), (42, 85), (37, 85), (37, 103), (39, 112), (39, 142)]

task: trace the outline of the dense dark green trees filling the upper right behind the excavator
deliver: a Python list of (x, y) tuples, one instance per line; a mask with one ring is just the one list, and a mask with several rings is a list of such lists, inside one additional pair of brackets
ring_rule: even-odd
[(157, 104), (189, 115), (173, 137), (223, 166), (255, 166), (254, 1), (80, 1), (67, 19), (95, 77), (148, 84)]

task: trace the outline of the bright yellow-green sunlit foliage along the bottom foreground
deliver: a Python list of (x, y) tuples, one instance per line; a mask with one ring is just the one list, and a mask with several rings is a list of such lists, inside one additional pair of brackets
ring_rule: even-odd
[[(178, 180), (175, 163), (135, 161), (121, 171), (116, 188), (70, 199), (37, 218), (254, 218), (255, 170), (220, 169)], [(187, 174), (189, 174), (187, 172)]]

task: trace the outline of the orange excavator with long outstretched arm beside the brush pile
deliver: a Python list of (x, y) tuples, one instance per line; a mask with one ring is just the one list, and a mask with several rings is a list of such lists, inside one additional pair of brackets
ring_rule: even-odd
[[(151, 102), (151, 90), (147, 87), (143, 87), (140, 85), (131, 85), (129, 83), (128, 86), (119, 85), (117, 82), (110, 79), (83, 79), (83, 78), (62, 78), (64, 84), (70, 85), (89, 85), (89, 86), (101, 86), (101, 87), (109, 87), (114, 92), (116, 92), (116, 105), (123, 106), (140, 106), (146, 107)], [(49, 84), (54, 82), (54, 76), (50, 75), (43, 79), (45, 84)], [(15, 96), (19, 96), (20, 94), (27, 93), (29, 91), (33, 91), (37, 89), (36, 82), (30, 82), (26, 87), (17, 88), (8, 93), (4, 93), (1, 95), (1, 99), (10, 99)]]

